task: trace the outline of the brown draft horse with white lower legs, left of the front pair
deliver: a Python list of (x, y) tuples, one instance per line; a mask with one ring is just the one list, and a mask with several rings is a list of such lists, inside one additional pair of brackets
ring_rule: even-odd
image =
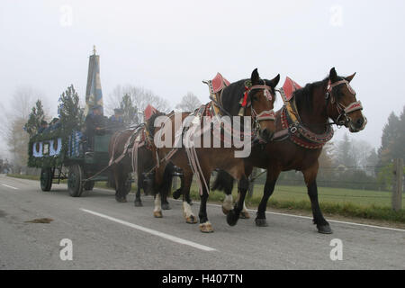
[[(247, 80), (250, 81), (250, 88), (247, 88), (246, 86)], [(240, 109), (239, 100), (242, 97), (244, 97), (243, 99), (246, 98), (247, 102), (250, 103), (250, 109), (245, 109), (243, 115), (253, 120), (253, 122), (255, 123), (254, 130), (258, 131), (258, 134), (261, 136), (262, 139), (270, 139), (275, 131), (274, 116), (272, 119), (269, 119), (269, 117), (263, 117), (262, 119), (260, 119), (258, 116), (265, 115), (266, 112), (274, 114), (273, 107), (275, 102), (275, 86), (278, 84), (279, 80), (279, 75), (275, 76), (273, 80), (260, 79), (257, 73), (257, 69), (255, 69), (250, 79), (239, 80), (238, 82), (225, 87), (220, 94), (220, 99), (209, 104), (211, 105), (211, 107), (215, 105), (216, 107), (220, 108), (220, 116), (228, 114), (230, 116), (238, 117)], [(208, 106), (205, 106), (205, 108), (206, 107)], [(188, 152), (186, 151), (186, 148), (184, 148), (184, 146), (177, 149), (172, 148), (175, 146), (175, 141), (172, 139), (175, 139), (175, 136), (178, 135), (179, 132), (181, 134), (182, 132), (184, 132), (184, 130), (182, 129), (175, 129), (175, 118), (181, 117), (181, 121), (184, 121), (184, 119), (188, 115), (189, 113), (174, 113), (170, 115), (170, 118), (166, 122), (164, 122), (161, 127), (156, 128), (155, 119), (157, 119), (158, 117), (157, 114), (154, 115), (155, 117), (152, 116), (147, 122), (147, 129), (150, 133), (150, 140), (156, 140), (158, 138), (159, 130), (160, 135), (163, 134), (163, 131), (165, 136), (169, 135), (168, 138), (170, 138), (171, 136), (168, 146), (165, 146), (163, 148), (157, 148), (156, 146), (154, 146), (156, 148), (154, 156), (156, 157), (156, 161), (159, 164), (156, 169), (155, 184), (157, 184), (158, 186), (162, 183), (162, 175), (167, 163), (166, 159), (170, 156), (169, 161), (175, 164), (175, 166), (180, 167), (183, 170), (184, 174), (182, 188), (184, 218), (187, 223), (196, 223), (197, 220), (193, 215), (191, 206), (186, 201), (187, 197), (189, 197), (194, 172), (200, 183), (201, 205), (198, 214), (200, 219), (200, 230), (204, 233), (208, 233), (213, 231), (206, 211), (211, 172), (215, 168), (226, 170), (230, 175), (232, 175), (233, 178), (238, 180), (239, 199), (238, 202), (235, 203), (234, 209), (232, 211), (229, 211), (227, 217), (227, 222), (229, 223), (229, 225), (233, 226), (237, 223), (239, 213), (243, 208), (243, 202), (248, 187), (247, 175), (250, 175), (251, 171), (245, 170), (242, 157), (235, 157), (234, 152), (237, 150), (237, 148), (235, 148), (234, 146), (232, 146), (231, 148), (224, 148), (224, 146), (221, 145), (220, 148), (214, 148), (214, 136), (210, 139), (211, 145), (209, 145), (209, 148), (195, 148), (194, 155), (196, 155), (198, 162), (197, 165), (200, 167), (198, 171), (195, 171), (195, 169), (193, 169), (193, 167), (189, 163), (190, 158), (188, 156), (190, 156), (190, 154), (187, 154)], [(170, 123), (170, 125), (168, 125), (167, 123)], [(222, 132), (224, 131), (222, 130)], [(209, 130), (208, 133), (213, 135), (212, 130)], [(151, 139), (152, 137), (154, 137), (154, 139)], [(182, 139), (184, 139), (183, 134)], [(162, 138), (162, 140), (166, 139)], [(223, 139), (221, 139), (221, 141), (222, 140)], [(201, 139), (201, 143), (202, 142), (203, 139)], [(158, 197), (155, 201), (154, 216), (162, 217)]]

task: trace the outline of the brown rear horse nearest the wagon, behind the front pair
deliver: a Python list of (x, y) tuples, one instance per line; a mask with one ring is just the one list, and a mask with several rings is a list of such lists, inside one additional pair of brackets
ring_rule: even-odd
[[(147, 148), (146, 145), (142, 145), (138, 148), (138, 154), (135, 157), (132, 157), (131, 153), (134, 151), (132, 148), (128, 148), (125, 155), (122, 155), (127, 141), (132, 138), (131, 143), (135, 141), (140, 141), (142, 134), (144, 133), (145, 127), (137, 127), (135, 129), (120, 130), (115, 132), (112, 135), (112, 139), (109, 144), (109, 155), (112, 159), (117, 159), (122, 157), (121, 160), (112, 164), (112, 175), (114, 178), (115, 184), (115, 199), (117, 202), (127, 202), (126, 196), (130, 192), (130, 173), (135, 167), (137, 174), (137, 193), (135, 194), (134, 204), (137, 207), (142, 206), (140, 199), (140, 190), (143, 189), (145, 193), (150, 193), (152, 188), (151, 184), (148, 184), (148, 179), (146, 178), (145, 173), (147, 173), (153, 166), (154, 160), (152, 157), (151, 151)], [(131, 144), (134, 145), (134, 144)], [(132, 163), (134, 161), (134, 163)], [(167, 166), (164, 174), (164, 185), (162, 186), (165, 190), (165, 193), (162, 193), (162, 209), (169, 210), (170, 205), (167, 202), (166, 195), (172, 185), (172, 175), (174, 172), (174, 166)]]

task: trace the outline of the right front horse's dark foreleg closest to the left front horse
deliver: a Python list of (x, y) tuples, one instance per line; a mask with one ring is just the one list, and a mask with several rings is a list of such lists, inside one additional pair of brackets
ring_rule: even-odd
[(278, 175), (280, 175), (280, 172), (281, 171), (278, 168), (273, 168), (273, 167), (267, 168), (265, 190), (263, 192), (262, 200), (260, 201), (260, 203), (257, 207), (257, 216), (255, 219), (256, 225), (259, 227), (268, 226), (267, 221), (266, 221), (267, 202), (268, 202), (268, 199), (270, 198), (270, 196), (275, 191), (275, 182), (277, 181), (277, 178), (278, 178)]

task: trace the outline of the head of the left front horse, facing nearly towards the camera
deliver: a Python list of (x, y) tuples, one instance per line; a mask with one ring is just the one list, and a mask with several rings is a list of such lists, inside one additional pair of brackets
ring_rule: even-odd
[(275, 86), (280, 81), (280, 75), (272, 80), (261, 79), (257, 69), (250, 76), (251, 85), (248, 86), (242, 106), (245, 104), (250, 109), (245, 109), (245, 115), (251, 116), (253, 129), (260, 139), (270, 140), (275, 134)]

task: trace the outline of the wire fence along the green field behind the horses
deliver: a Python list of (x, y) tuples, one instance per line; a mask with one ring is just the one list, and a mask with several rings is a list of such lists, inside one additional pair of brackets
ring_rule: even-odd
[[(402, 175), (403, 176), (403, 175)], [(266, 170), (256, 171), (251, 196), (263, 195)], [(360, 205), (391, 207), (394, 176), (387, 166), (320, 166), (317, 176), (320, 201), (350, 202)], [(278, 193), (280, 192), (280, 193)], [(307, 200), (307, 187), (302, 172), (282, 172), (275, 185), (272, 198), (276, 200)], [(405, 195), (402, 194), (402, 207)]]

